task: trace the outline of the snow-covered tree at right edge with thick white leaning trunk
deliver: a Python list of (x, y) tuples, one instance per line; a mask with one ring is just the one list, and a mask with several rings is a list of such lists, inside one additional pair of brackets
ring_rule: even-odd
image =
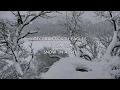
[(107, 47), (107, 51), (104, 55), (105, 58), (111, 56), (114, 48), (120, 47), (120, 40), (118, 33), (120, 31), (119, 28), (119, 19), (120, 19), (120, 12), (119, 11), (96, 11), (95, 14), (101, 18), (104, 18), (106, 21), (109, 21), (114, 29), (114, 34), (112, 41), (110, 42), (109, 46)]

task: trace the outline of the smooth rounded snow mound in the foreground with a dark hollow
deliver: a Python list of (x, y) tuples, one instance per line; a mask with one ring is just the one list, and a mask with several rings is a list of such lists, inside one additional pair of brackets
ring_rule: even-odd
[[(81, 58), (63, 58), (51, 66), (43, 79), (112, 79), (120, 75), (120, 58), (113, 58), (110, 62), (90, 62)], [(116, 66), (117, 70), (112, 70)], [(76, 71), (84, 69), (83, 71)]]

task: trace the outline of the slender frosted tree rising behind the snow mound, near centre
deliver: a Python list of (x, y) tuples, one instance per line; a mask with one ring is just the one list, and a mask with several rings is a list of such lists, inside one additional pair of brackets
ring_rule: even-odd
[(67, 30), (66, 35), (70, 41), (70, 44), (73, 46), (74, 54), (76, 57), (80, 57), (82, 51), (78, 47), (77, 42), (79, 38), (83, 37), (85, 34), (84, 30), (80, 26), (81, 15), (83, 11), (71, 11), (66, 12), (66, 18), (62, 26)]

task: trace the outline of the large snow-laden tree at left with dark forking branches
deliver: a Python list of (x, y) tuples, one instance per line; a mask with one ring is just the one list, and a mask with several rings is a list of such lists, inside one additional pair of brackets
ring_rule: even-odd
[[(27, 31), (25, 33), (24, 28), (28, 26), (31, 22), (36, 20), (39, 17), (50, 18), (48, 15), (52, 11), (11, 11), (15, 18), (16, 22), (0, 22), (1, 23), (1, 41), (0, 46), (5, 45), (5, 50), (3, 52), (9, 54), (13, 58), (14, 67), (17, 73), (22, 77), (24, 72), (20, 66), (19, 51), (21, 47), (21, 41), (30, 34), (38, 33), (37, 31)], [(9, 51), (9, 52), (8, 52)]]

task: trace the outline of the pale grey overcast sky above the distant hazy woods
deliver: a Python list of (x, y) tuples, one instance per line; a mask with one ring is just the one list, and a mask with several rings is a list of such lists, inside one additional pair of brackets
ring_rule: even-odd
[[(99, 22), (100, 20), (94, 17), (93, 11), (86, 11), (83, 14), (83, 18), (90, 20), (93, 23)], [(13, 15), (10, 11), (0, 11), (0, 18), (12, 18)]]

